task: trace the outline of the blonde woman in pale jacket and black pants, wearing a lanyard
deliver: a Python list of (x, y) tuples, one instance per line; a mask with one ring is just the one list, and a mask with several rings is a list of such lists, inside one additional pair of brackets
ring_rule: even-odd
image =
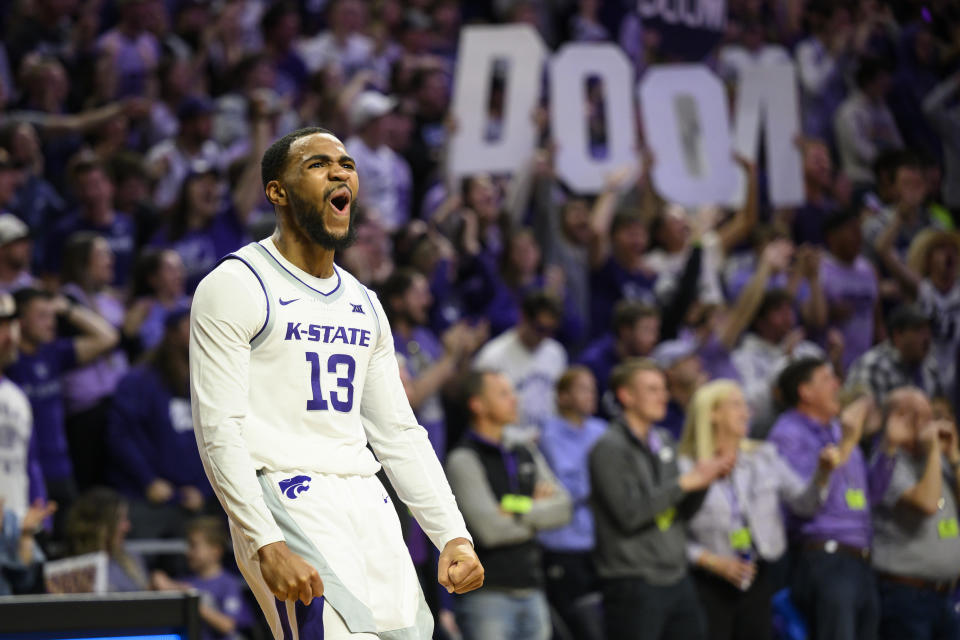
[(749, 431), (750, 410), (740, 385), (714, 380), (690, 401), (678, 448), (681, 473), (698, 460), (736, 456), (733, 470), (710, 485), (688, 523), (687, 555), (716, 640), (771, 637), (776, 585), (769, 565), (787, 547), (781, 501), (797, 514), (813, 515), (840, 463), (837, 447), (825, 446), (806, 484), (772, 444), (747, 439)]

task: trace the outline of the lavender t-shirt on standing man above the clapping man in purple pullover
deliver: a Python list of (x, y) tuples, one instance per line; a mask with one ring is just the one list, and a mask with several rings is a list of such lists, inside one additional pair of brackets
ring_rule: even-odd
[(857, 256), (846, 265), (829, 253), (820, 261), (820, 282), (830, 309), (845, 307), (849, 316), (830, 328), (843, 334), (843, 369), (873, 346), (873, 313), (879, 295), (877, 275), (870, 262)]

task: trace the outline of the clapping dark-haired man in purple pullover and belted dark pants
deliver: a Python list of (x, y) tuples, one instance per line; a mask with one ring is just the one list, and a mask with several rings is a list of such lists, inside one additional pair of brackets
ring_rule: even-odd
[(824, 445), (838, 445), (842, 461), (820, 511), (807, 519), (788, 517), (798, 552), (794, 601), (807, 618), (812, 640), (875, 638), (880, 607), (870, 567), (870, 482), (857, 446), (870, 400), (861, 398), (841, 413), (840, 381), (833, 367), (817, 358), (788, 365), (777, 386), (789, 407), (769, 436), (780, 455), (805, 479), (813, 475)]

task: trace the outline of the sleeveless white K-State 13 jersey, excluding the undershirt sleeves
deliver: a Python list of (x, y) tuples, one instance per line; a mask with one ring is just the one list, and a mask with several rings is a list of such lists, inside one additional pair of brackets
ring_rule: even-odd
[(254, 272), (267, 302), (265, 321), (250, 342), (250, 417), (264, 428), (245, 433), (258, 468), (376, 473), (360, 402), (383, 330), (382, 308), (337, 266), (329, 288), (321, 290), (263, 244), (251, 243), (226, 259)]

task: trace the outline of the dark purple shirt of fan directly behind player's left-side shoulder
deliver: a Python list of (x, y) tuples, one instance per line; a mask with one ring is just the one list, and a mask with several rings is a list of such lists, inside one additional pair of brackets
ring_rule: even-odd
[(150, 244), (170, 247), (180, 254), (187, 274), (187, 291), (193, 292), (223, 256), (250, 242), (246, 229), (230, 207), (223, 209), (203, 229), (187, 231), (170, 241), (168, 231), (161, 229)]

